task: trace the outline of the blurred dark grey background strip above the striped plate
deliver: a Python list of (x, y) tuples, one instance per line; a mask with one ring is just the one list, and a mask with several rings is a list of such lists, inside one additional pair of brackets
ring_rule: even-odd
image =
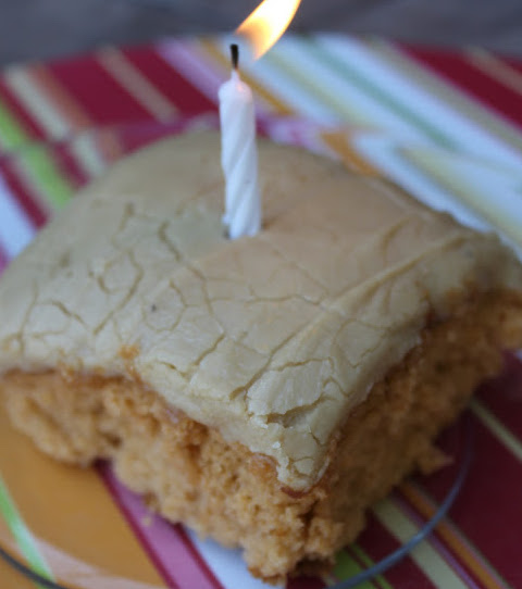
[[(0, 65), (233, 30), (259, 0), (0, 0)], [(522, 57), (522, 0), (302, 0), (294, 32), (341, 30)]]

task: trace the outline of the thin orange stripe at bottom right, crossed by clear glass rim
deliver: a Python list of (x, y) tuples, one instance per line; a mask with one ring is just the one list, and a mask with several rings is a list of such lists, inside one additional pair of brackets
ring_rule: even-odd
[[(435, 506), (411, 483), (403, 483), (400, 490), (423, 517), (430, 519), (433, 516)], [(484, 587), (487, 589), (505, 589), (507, 587), (500, 576), (492, 567), (484, 564), (484, 556), (478, 554), (476, 549), (470, 546), (465, 538), (458, 534), (446, 519), (437, 525), (436, 530)]]

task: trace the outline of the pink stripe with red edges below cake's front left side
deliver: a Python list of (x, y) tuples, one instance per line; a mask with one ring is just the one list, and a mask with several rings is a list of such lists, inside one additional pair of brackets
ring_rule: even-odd
[(224, 589), (181, 526), (152, 514), (139, 496), (116, 479), (108, 464), (101, 464), (98, 472), (169, 587)]

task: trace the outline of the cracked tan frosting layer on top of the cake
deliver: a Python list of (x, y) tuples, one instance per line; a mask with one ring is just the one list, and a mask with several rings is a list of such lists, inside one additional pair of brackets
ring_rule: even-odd
[(522, 271), (383, 180), (259, 152), (252, 238), (223, 235), (216, 134), (158, 142), (83, 190), (0, 280), (0, 372), (139, 377), (299, 490), (448, 293), (522, 290)]

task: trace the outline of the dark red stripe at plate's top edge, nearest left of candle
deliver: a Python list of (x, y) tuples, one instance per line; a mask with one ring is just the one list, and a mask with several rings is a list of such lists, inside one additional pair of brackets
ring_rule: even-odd
[(215, 104), (178, 74), (152, 48), (123, 49), (128, 61), (139, 70), (183, 114), (215, 111)]

